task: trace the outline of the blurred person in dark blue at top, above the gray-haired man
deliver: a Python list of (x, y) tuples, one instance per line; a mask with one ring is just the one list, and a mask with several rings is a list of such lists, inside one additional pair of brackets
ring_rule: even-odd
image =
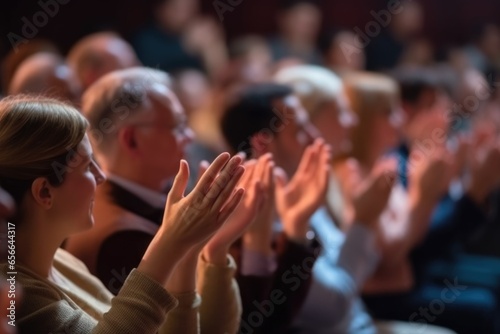
[(132, 38), (144, 65), (218, 75), (227, 62), (224, 32), (212, 18), (201, 16), (199, 7), (199, 0), (162, 0), (155, 7), (154, 22)]

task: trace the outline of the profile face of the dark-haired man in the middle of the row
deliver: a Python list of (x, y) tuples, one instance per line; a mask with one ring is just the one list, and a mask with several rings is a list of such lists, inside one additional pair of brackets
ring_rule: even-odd
[(278, 166), (284, 168), (291, 177), (300, 163), (302, 153), (319, 136), (319, 132), (294, 95), (274, 101), (273, 107), (282, 125), (278, 127), (269, 148)]

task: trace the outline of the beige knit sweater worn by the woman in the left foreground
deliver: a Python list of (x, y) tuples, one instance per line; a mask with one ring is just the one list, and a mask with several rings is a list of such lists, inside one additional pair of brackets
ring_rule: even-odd
[[(0, 267), (3, 273), (8, 271), (5, 264)], [(16, 327), (21, 334), (200, 333), (201, 299), (194, 291), (173, 296), (156, 281), (133, 270), (120, 293), (113, 297), (70, 253), (59, 249), (53, 267), (55, 278), (49, 280), (21, 265), (16, 266), (16, 282), (23, 291), (23, 300), (17, 303), (16, 309)], [(203, 286), (212, 283), (202, 282), (202, 296), (234, 304), (234, 314), (221, 314), (216, 319), (202, 316), (207, 328), (205, 332), (236, 332), (241, 305), (232, 297), (238, 292), (237, 286), (232, 285), (234, 261), (230, 259), (227, 268), (217, 268), (202, 261), (200, 270), (206, 271), (207, 279), (228, 284), (221, 290), (222, 295), (216, 296), (215, 291), (203, 291)]]

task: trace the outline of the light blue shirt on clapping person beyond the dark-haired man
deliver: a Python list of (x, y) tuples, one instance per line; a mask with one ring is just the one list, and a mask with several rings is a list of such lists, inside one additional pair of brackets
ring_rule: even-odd
[(313, 280), (293, 328), (297, 333), (376, 333), (366, 313), (360, 290), (379, 260), (375, 234), (354, 223), (345, 234), (321, 208), (311, 227), (322, 245), (313, 267)]

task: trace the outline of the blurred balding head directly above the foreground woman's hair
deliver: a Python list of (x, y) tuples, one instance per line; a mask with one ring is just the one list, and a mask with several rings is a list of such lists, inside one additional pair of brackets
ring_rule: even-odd
[(64, 58), (36, 53), (24, 60), (12, 77), (9, 94), (45, 95), (77, 105), (81, 87)]

